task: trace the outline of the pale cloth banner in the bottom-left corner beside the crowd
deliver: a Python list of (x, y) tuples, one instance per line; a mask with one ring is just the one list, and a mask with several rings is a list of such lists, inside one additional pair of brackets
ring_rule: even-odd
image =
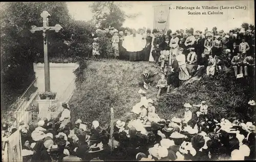
[(20, 162), (22, 158), (22, 141), (19, 130), (8, 137), (8, 143), (5, 147), (4, 161)]

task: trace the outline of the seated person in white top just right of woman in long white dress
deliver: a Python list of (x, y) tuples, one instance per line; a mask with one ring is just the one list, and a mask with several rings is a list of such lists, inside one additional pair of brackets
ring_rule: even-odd
[(190, 48), (189, 51), (187, 55), (187, 71), (190, 75), (193, 75), (197, 70), (197, 55), (194, 52), (194, 48)]

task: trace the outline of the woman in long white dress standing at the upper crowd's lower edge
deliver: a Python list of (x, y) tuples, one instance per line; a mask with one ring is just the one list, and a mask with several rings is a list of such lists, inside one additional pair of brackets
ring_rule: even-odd
[(178, 52), (177, 61), (180, 67), (180, 73), (179, 73), (179, 80), (188, 80), (189, 79), (189, 73), (187, 72), (186, 68), (186, 57), (181, 52)]

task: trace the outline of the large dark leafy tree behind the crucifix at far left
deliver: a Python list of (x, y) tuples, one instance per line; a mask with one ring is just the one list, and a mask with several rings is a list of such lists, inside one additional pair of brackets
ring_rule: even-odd
[[(31, 83), (33, 62), (44, 56), (42, 33), (29, 31), (32, 25), (42, 26), (40, 13), (44, 10), (51, 14), (49, 26), (60, 24), (66, 28), (70, 16), (65, 2), (11, 2), (1, 7), (2, 108), (8, 107)], [(48, 38), (49, 49), (67, 39), (62, 31), (51, 31)]]

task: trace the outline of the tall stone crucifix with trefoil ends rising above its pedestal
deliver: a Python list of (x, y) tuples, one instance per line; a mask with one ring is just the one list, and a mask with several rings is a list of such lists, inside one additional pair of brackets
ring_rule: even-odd
[(44, 63), (45, 63), (45, 91), (50, 91), (50, 65), (48, 58), (48, 42), (47, 42), (47, 31), (54, 30), (59, 32), (62, 27), (60, 25), (55, 25), (55, 27), (49, 27), (49, 18), (51, 15), (47, 11), (42, 11), (40, 14), (42, 17), (42, 27), (32, 26), (30, 32), (35, 33), (35, 31), (42, 31), (42, 36), (44, 37)]

